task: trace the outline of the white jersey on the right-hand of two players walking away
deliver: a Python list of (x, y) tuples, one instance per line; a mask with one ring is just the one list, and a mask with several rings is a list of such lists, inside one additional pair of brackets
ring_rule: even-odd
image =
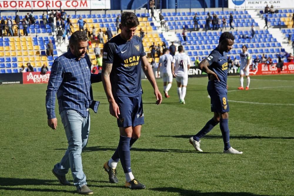
[(188, 55), (178, 53), (173, 56), (173, 63), (175, 63), (175, 74), (176, 76), (188, 76), (188, 65), (191, 65), (190, 58)]

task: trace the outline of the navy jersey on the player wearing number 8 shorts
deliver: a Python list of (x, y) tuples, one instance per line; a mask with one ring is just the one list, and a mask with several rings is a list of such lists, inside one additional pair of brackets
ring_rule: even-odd
[[(223, 53), (220, 53), (216, 48), (213, 51), (211, 51), (210, 55), (205, 59), (209, 63), (208, 68), (214, 73), (216, 73), (218, 79), (220, 80), (220, 84), (226, 88), (228, 76), (227, 53), (225, 51)], [(208, 78), (209, 77), (210, 74), (208, 74)]]

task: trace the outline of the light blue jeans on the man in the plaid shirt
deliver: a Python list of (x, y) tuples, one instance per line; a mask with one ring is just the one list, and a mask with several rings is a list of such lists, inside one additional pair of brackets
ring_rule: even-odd
[(74, 185), (76, 187), (87, 185), (81, 152), (88, 142), (90, 113), (88, 117), (84, 118), (76, 110), (63, 110), (60, 116), (69, 146), (60, 163), (54, 165), (54, 172), (58, 175), (66, 175), (71, 168)]

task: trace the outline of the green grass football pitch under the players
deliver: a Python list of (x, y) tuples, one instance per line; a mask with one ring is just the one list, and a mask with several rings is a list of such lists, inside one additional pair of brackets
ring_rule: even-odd
[[(162, 80), (157, 79), (161, 92)], [(244, 84), (246, 79), (244, 78)], [(207, 78), (189, 78), (186, 105), (178, 103), (176, 82), (155, 105), (153, 89), (142, 81), (145, 124), (131, 149), (134, 176), (145, 190), (108, 183), (102, 169), (117, 147), (116, 119), (109, 114), (102, 83), (93, 84), (98, 113), (91, 110), (91, 133), (82, 153), (83, 170), (95, 195), (294, 195), (294, 75), (251, 76), (249, 91), (228, 78), (230, 143), (243, 155), (223, 154), (219, 126), (202, 138), (197, 153), (188, 142), (211, 119)], [(58, 115), (47, 125), (46, 84), (0, 86), (0, 195), (73, 195), (51, 170), (67, 148)], [(56, 103), (56, 110), (58, 105)], [(71, 173), (67, 179), (72, 182)]]

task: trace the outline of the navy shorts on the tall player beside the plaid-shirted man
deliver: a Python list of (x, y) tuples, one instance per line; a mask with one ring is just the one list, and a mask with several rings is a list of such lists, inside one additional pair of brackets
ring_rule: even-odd
[(114, 97), (120, 111), (118, 115), (118, 127), (130, 127), (144, 124), (142, 96), (138, 97)]

